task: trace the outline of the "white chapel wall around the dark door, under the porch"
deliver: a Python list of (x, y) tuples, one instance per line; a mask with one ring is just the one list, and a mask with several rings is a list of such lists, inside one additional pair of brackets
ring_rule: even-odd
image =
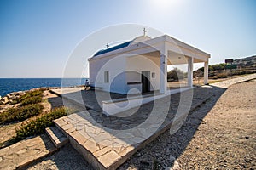
[[(133, 56), (126, 59), (126, 70), (136, 71), (139, 74), (126, 74), (127, 82), (142, 82), (141, 72), (150, 71), (150, 90), (160, 89), (160, 57), (158, 56)], [(152, 77), (152, 73), (155, 73), (155, 77)]]

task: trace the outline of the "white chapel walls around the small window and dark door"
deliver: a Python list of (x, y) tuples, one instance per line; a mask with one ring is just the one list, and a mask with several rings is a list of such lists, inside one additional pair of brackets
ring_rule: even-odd
[[(109, 82), (104, 82), (104, 71), (109, 71)], [(135, 72), (132, 72), (135, 71)], [(90, 84), (119, 94), (127, 94), (127, 82), (141, 82), (141, 72), (150, 71), (150, 90), (160, 89), (160, 56), (118, 55), (90, 60)], [(155, 77), (152, 77), (152, 73)]]

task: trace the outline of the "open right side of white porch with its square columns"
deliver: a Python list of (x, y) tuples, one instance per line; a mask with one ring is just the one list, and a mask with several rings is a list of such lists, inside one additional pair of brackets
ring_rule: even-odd
[[(195, 63), (204, 64), (204, 84), (208, 84), (208, 59), (210, 54), (172, 37), (166, 37), (164, 44), (164, 48), (160, 50), (160, 93), (170, 94), (173, 88), (192, 88)], [(178, 82), (168, 82), (166, 78), (168, 65), (185, 65), (186, 77), (177, 76)]]

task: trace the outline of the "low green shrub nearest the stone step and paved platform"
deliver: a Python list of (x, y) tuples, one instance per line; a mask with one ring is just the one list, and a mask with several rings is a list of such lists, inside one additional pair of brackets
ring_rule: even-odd
[(66, 116), (67, 108), (61, 107), (45, 114), (44, 116), (38, 117), (36, 120), (32, 120), (28, 124), (16, 129), (18, 138), (25, 138), (28, 136), (44, 133), (46, 127), (54, 125), (54, 120), (61, 116)]

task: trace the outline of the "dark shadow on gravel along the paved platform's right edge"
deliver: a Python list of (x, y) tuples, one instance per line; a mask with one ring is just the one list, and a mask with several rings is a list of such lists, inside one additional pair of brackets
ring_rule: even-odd
[(189, 142), (194, 138), (198, 127), (204, 124), (203, 119), (207, 113), (212, 110), (218, 99), (224, 94), (226, 88), (217, 88), (212, 86), (212, 97), (197, 106), (193, 111), (189, 112), (183, 126), (176, 133), (170, 134), (167, 130), (158, 138), (154, 139), (150, 144), (142, 150), (138, 150), (136, 154), (119, 167), (119, 170), (133, 167), (135, 169), (165, 169), (173, 167), (177, 157), (183, 154)]

